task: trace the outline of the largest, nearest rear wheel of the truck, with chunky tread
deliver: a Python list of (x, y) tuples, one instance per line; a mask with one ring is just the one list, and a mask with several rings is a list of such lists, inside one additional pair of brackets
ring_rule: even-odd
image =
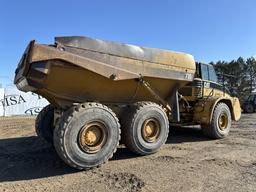
[(64, 112), (54, 130), (54, 146), (60, 158), (76, 169), (105, 163), (120, 140), (115, 113), (98, 103), (85, 103)]

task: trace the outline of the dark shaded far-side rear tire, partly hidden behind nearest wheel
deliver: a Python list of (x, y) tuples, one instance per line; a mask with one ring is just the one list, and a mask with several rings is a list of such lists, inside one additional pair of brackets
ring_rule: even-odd
[(49, 143), (53, 143), (53, 120), (54, 107), (47, 105), (39, 112), (35, 121), (36, 134)]

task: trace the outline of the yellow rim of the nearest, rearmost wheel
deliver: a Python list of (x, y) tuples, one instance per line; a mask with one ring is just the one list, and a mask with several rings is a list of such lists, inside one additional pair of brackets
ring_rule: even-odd
[(107, 141), (107, 131), (104, 124), (92, 122), (82, 127), (79, 133), (79, 146), (86, 153), (98, 152)]

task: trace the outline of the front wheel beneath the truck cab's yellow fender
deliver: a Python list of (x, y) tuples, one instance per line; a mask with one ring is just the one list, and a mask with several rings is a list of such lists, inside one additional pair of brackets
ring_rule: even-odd
[(213, 111), (210, 125), (202, 125), (202, 131), (207, 137), (222, 139), (229, 134), (230, 127), (230, 109), (225, 103), (218, 103)]

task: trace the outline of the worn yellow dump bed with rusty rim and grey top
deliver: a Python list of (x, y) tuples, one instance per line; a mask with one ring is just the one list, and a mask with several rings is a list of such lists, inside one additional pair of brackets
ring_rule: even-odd
[(30, 42), (16, 69), (15, 84), (65, 107), (86, 101), (155, 101), (141, 80), (166, 99), (172, 90), (192, 81), (194, 73), (195, 61), (188, 54), (87, 37), (56, 37), (54, 45)]

